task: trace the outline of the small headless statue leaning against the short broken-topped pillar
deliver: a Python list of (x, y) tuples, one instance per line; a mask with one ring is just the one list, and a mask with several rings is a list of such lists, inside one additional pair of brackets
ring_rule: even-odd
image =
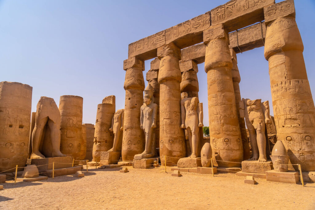
[[(109, 128), (109, 130), (114, 133), (114, 144), (112, 149), (108, 150), (108, 152), (117, 152), (121, 131), (123, 131), (123, 118), (124, 109), (117, 110), (112, 118), (112, 128)], [(120, 151), (121, 144), (122, 142), (120, 142)]]

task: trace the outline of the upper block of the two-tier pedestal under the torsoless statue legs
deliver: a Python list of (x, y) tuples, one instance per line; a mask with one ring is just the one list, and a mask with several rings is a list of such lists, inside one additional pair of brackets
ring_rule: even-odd
[(38, 170), (49, 170), (57, 168), (67, 168), (72, 167), (72, 157), (71, 156), (63, 156), (63, 157), (46, 157), (46, 158), (34, 158), (28, 159), (28, 165), (36, 165)]

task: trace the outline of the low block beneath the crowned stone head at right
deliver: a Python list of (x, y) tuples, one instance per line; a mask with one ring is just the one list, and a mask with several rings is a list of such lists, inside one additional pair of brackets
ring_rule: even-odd
[(278, 172), (275, 170), (266, 171), (266, 179), (271, 182), (283, 182), (297, 184), (300, 180), (299, 173), (297, 171)]

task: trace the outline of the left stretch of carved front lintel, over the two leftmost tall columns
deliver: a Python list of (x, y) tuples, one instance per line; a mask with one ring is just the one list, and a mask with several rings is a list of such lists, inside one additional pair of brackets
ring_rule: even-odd
[(210, 12), (199, 15), (176, 26), (130, 43), (128, 58), (137, 56), (142, 60), (157, 57), (157, 48), (174, 42), (179, 48), (185, 48), (202, 42), (202, 34), (210, 26)]

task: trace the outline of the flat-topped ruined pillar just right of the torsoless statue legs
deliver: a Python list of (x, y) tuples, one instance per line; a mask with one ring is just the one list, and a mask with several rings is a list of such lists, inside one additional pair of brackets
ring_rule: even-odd
[(83, 98), (75, 95), (62, 95), (59, 101), (61, 117), (60, 151), (77, 160), (82, 141)]

